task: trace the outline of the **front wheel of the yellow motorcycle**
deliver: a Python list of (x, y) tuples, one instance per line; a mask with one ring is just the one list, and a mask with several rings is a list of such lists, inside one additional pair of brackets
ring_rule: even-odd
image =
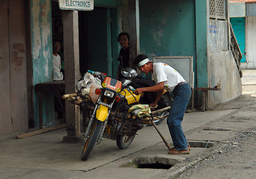
[(91, 154), (92, 149), (94, 148), (94, 145), (97, 142), (97, 139), (100, 135), (100, 130), (103, 126), (103, 122), (94, 119), (93, 125), (91, 125), (91, 131), (88, 135), (88, 138), (85, 141), (85, 147), (82, 151), (81, 159), (82, 160), (88, 160), (88, 157)]

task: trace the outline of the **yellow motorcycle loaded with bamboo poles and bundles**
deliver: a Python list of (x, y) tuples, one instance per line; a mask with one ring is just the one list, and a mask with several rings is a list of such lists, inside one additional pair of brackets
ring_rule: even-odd
[[(83, 88), (74, 94), (63, 96), (67, 101), (82, 108), (85, 129), (82, 160), (88, 160), (94, 145), (100, 143), (102, 137), (116, 140), (118, 148), (129, 148), (138, 130), (153, 120), (165, 117), (154, 117), (148, 105), (139, 104), (143, 94), (135, 95), (132, 86), (122, 84), (121, 81), (107, 77), (101, 72), (88, 72), (94, 75), (102, 86), (95, 90), (95, 94), (99, 95), (95, 104)], [(135, 110), (131, 110), (133, 108)]]

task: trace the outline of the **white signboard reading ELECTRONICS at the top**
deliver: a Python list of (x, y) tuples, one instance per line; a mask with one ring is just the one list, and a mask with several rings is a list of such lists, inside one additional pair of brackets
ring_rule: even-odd
[(58, 0), (61, 10), (94, 10), (94, 0)]

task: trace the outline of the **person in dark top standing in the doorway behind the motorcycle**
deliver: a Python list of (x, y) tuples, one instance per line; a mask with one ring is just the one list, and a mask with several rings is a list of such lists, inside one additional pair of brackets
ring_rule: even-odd
[(121, 78), (121, 69), (129, 67), (129, 34), (127, 32), (122, 32), (118, 35), (118, 42), (121, 45), (121, 50), (119, 52), (119, 66), (117, 78)]

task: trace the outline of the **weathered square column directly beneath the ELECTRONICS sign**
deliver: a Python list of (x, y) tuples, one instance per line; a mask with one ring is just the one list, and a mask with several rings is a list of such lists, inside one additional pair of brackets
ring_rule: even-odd
[[(65, 92), (76, 92), (79, 72), (79, 17), (77, 10), (63, 10)], [(67, 136), (64, 142), (78, 142), (80, 134), (79, 106), (66, 103)]]

